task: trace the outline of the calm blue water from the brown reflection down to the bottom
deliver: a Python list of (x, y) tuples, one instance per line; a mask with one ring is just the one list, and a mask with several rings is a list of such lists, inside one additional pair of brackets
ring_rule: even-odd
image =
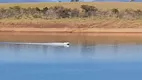
[(0, 44), (0, 80), (142, 80), (142, 45)]

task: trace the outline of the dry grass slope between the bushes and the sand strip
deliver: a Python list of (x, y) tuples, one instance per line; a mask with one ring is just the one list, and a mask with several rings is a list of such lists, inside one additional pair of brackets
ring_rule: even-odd
[(90, 19), (90, 18), (71, 18), (71, 19), (2, 19), (0, 27), (36, 27), (36, 28), (142, 28), (142, 20), (125, 19)]

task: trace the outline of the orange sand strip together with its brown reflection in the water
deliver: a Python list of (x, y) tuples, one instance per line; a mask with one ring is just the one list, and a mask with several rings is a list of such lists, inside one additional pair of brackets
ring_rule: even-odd
[(0, 28), (1, 42), (142, 43), (142, 29)]

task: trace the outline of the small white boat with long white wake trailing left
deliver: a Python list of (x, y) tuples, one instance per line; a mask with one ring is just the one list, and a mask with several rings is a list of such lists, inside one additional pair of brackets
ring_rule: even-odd
[(69, 42), (51, 42), (51, 43), (24, 43), (24, 42), (0, 42), (1, 44), (21, 44), (21, 45), (47, 45), (69, 47)]

